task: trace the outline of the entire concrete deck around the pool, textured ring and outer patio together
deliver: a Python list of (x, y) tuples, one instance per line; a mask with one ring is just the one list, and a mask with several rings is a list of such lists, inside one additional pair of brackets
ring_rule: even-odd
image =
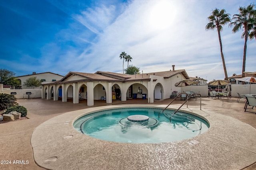
[[(154, 104), (145, 104), (145, 100), (115, 101), (110, 106), (99, 101), (96, 106), (106, 109), (136, 103), (165, 107), (171, 100)], [(182, 102), (177, 100), (170, 108), (178, 108)], [(72, 127), (74, 118), (97, 109), (83, 103), (44, 99), (18, 100), (18, 103), (28, 109), (30, 119), (0, 124), (0, 142), (4, 148), (0, 156), (2, 160), (29, 160), (29, 164), (1, 164), (0, 169), (256, 168), (256, 115), (244, 112), (244, 103), (237, 103), (236, 98), (202, 98), (202, 110), (199, 100), (190, 100), (188, 108), (184, 105), (181, 109), (204, 116), (210, 121), (210, 129), (192, 139), (152, 144), (114, 143), (78, 133)], [(121, 105), (124, 103), (127, 104)], [(15, 147), (8, 147), (10, 143), (15, 143)]]

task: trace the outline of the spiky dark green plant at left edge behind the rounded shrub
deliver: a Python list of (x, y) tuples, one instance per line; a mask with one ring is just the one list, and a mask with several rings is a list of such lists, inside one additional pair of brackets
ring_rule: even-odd
[(0, 93), (0, 110), (18, 105), (16, 100), (16, 97), (14, 97), (12, 94)]

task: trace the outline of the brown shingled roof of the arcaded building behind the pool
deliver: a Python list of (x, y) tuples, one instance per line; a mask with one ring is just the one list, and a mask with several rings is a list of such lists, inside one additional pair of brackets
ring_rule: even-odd
[[(55, 81), (54, 83), (62, 84), (62, 83), (70, 83), (70, 82), (88, 82), (88, 81), (108, 81), (108, 82), (130, 82), (130, 81), (150, 81), (151, 75), (160, 76), (164, 78), (170, 78), (175, 76), (176, 74), (182, 74), (186, 79), (189, 79), (188, 74), (185, 70), (170, 70), (163, 72), (151, 72), (151, 73), (143, 73), (143, 74), (121, 74), (115, 72), (104, 72), (97, 71), (95, 73), (86, 73), (86, 72), (68, 72), (66, 76), (64, 76), (61, 80)], [(70, 76), (81, 76), (78, 80), (69, 80), (67, 79)], [(51, 83), (44, 83), (51, 84)]]

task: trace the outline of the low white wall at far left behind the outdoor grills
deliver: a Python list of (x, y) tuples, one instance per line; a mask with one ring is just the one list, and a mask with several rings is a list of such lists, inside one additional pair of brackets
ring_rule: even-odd
[(30, 98), (42, 98), (42, 89), (4, 89), (3, 93), (11, 94), (11, 92), (16, 92), (14, 95), (17, 99), (28, 98), (26, 92), (31, 92)]

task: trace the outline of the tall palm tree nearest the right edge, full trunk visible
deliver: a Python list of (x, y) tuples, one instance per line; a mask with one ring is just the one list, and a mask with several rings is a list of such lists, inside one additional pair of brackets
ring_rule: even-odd
[(244, 30), (244, 33), (242, 33), (242, 38), (244, 38), (244, 55), (243, 55), (243, 65), (242, 65), (242, 77), (244, 77), (244, 71), (245, 71), (245, 61), (246, 61), (246, 49), (247, 49), (247, 40), (249, 35), (249, 30), (252, 28), (252, 25), (254, 23), (253, 14), (255, 13), (255, 5), (250, 4), (247, 7), (239, 7), (238, 9), (239, 14), (233, 15), (232, 20), (234, 22), (230, 23), (230, 26), (234, 25), (232, 32), (236, 33), (237, 31), (240, 31), (240, 29)]

